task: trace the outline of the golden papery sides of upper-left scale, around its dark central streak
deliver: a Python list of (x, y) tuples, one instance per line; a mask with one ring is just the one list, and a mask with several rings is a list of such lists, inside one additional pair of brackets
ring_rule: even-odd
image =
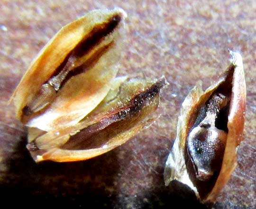
[[(102, 25), (115, 17), (121, 19), (118, 26), (88, 52), (89, 55), (93, 51), (97, 53), (100, 47), (108, 46), (107, 49), (102, 48), (99, 60), (92, 63), (90, 69), (70, 78), (44, 110), (25, 115), (23, 108), (54, 75), (70, 52), (91, 38), (95, 28), (101, 29)], [(126, 13), (122, 9), (93, 10), (64, 26), (39, 52), (16, 88), (11, 100), (14, 101), (17, 118), (29, 127), (50, 131), (75, 124), (90, 113), (107, 95), (110, 82), (116, 76), (125, 17)]]

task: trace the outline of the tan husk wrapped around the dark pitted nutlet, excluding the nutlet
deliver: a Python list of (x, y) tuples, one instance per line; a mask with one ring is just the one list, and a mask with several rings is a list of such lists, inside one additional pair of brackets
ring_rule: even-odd
[[(236, 152), (242, 140), (245, 122), (246, 84), (241, 55), (238, 52), (230, 52), (230, 54), (230, 66), (217, 82), (205, 91), (202, 91), (201, 83), (199, 83), (185, 98), (177, 124), (177, 137), (165, 166), (165, 184), (169, 185), (171, 181), (177, 180), (188, 185), (202, 203), (215, 202), (219, 192), (228, 182), (237, 165)], [(187, 163), (186, 139), (201, 104), (205, 103), (221, 84), (227, 82), (228, 75), (232, 70), (234, 71), (230, 83), (232, 92), (228, 116), (228, 137), (222, 165), (220, 165), (218, 176), (210, 183), (198, 183), (191, 174), (193, 171), (191, 165)]]

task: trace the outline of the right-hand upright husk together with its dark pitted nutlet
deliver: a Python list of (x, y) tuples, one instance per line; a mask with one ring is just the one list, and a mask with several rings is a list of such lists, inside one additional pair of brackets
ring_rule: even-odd
[(205, 91), (201, 83), (185, 98), (177, 137), (166, 161), (165, 184), (189, 186), (203, 203), (215, 202), (237, 165), (246, 109), (242, 57), (231, 52), (226, 72)]

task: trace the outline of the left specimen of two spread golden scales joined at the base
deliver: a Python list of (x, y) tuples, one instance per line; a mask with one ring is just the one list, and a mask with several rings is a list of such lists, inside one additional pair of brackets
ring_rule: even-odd
[(89, 159), (154, 122), (165, 78), (115, 78), (125, 17), (93, 10), (64, 26), (20, 81), (12, 100), (35, 161)]

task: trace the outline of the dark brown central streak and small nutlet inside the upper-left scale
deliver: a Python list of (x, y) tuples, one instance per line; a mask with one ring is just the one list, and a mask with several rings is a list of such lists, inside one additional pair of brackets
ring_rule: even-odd
[[(55, 99), (57, 91), (64, 85), (64, 82), (70, 77), (78, 75), (81, 71), (90, 70), (100, 59), (101, 55), (113, 46), (113, 42), (102, 46), (98, 50), (93, 51), (93, 47), (99, 45), (105, 36), (110, 35), (120, 21), (121, 18), (116, 15), (115, 17), (111, 17), (106, 23), (95, 26), (89, 33), (89, 37), (85, 37), (81, 43), (75, 46), (73, 51), (70, 52), (70, 55), (68, 55), (60, 67), (55, 70), (54, 75), (49, 78), (46, 84), (42, 85), (31, 102), (23, 108), (23, 113), (29, 115), (46, 108), (46, 106)], [(93, 53), (90, 52), (90, 50)], [(88, 52), (90, 56), (87, 55)], [(78, 68), (81, 66), (82, 70), (79, 70)], [(45, 88), (47, 88), (47, 90)], [(42, 104), (35, 104), (34, 101), (38, 101), (38, 99)], [(38, 105), (40, 106), (38, 107)]]

